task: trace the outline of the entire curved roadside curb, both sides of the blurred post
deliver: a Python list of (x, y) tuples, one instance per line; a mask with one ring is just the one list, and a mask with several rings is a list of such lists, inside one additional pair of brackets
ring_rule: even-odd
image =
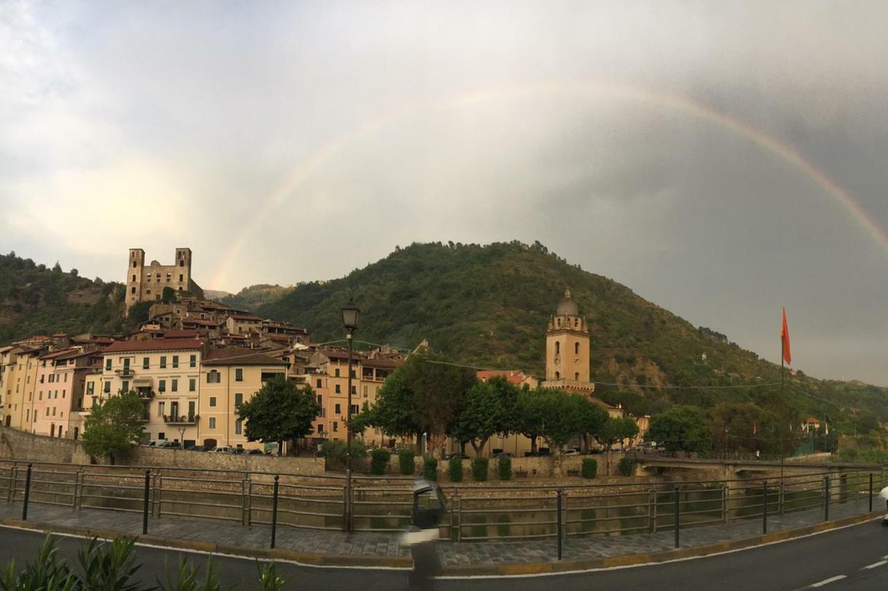
[[(775, 542), (786, 541), (789, 539), (800, 538), (821, 531), (834, 530), (844, 527), (845, 525), (853, 525), (855, 523), (864, 523), (883, 515), (881, 511), (873, 511), (872, 513), (864, 513), (861, 515), (853, 515), (852, 517), (844, 517), (829, 522), (815, 523), (807, 525), (796, 530), (775, 531), (773, 533), (765, 533), (758, 536), (745, 539), (735, 539), (727, 542), (718, 542), (715, 544), (707, 544), (705, 546), (694, 546), (686, 548), (676, 548), (674, 550), (665, 550), (663, 552), (652, 552), (647, 554), (634, 554), (622, 556), (607, 556), (597, 558), (581, 558), (577, 560), (564, 560), (555, 563), (523, 563), (523, 564), (476, 564), (464, 566), (444, 566), (438, 577), (510, 577), (510, 576), (527, 576), (547, 573), (571, 572), (571, 571), (597, 571), (603, 569), (612, 569), (619, 567), (638, 566), (642, 564), (667, 563), (674, 560), (686, 558), (698, 558), (706, 555), (730, 552), (732, 550), (747, 549), (750, 547), (762, 546), (764, 544), (773, 544)], [(119, 531), (93, 530), (83, 527), (72, 527), (67, 525), (51, 525), (44, 523), (26, 522), (20, 519), (0, 519), (0, 525), (8, 525), (23, 530), (44, 531), (47, 533), (62, 533), (86, 538), (130, 538)], [(257, 547), (241, 547), (229, 546), (226, 544), (217, 544), (215, 542), (206, 542), (195, 539), (178, 539), (163, 538), (161, 536), (139, 535), (135, 536), (137, 543), (150, 546), (167, 547), (180, 550), (193, 550), (197, 552), (206, 552), (209, 554), (247, 556), (250, 558), (258, 558), (262, 560), (288, 560), (295, 563), (302, 563), (313, 566), (348, 566), (348, 567), (368, 567), (368, 568), (390, 568), (410, 570), (413, 568), (413, 560), (409, 556), (375, 556), (375, 555), (330, 555), (330, 554), (310, 554), (303, 552), (294, 552), (285, 548), (257, 548)]]

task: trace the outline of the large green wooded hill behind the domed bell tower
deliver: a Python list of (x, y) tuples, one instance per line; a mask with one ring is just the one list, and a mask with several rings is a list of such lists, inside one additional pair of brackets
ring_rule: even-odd
[[(351, 294), (361, 307), (356, 339), (400, 347), (429, 339), (461, 363), (542, 374), (543, 335), (566, 287), (589, 320), (592, 376), (605, 399), (613, 398), (608, 390), (635, 392), (623, 401), (657, 411), (669, 403), (767, 405), (779, 392), (760, 387), (780, 381), (779, 366), (539, 243), (412, 244), (341, 279), (297, 285), (257, 312), (307, 326), (315, 341), (341, 339), (339, 308)], [(881, 387), (801, 371), (788, 373), (787, 384), (800, 414), (888, 421)]]

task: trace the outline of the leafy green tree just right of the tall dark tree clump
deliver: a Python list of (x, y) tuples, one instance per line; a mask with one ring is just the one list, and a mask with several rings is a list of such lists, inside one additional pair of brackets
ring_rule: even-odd
[(496, 377), (476, 381), (463, 396), (456, 419), (448, 432), (460, 443), (472, 443), (479, 455), (493, 435), (508, 435), (516, 426), (518, 387)]

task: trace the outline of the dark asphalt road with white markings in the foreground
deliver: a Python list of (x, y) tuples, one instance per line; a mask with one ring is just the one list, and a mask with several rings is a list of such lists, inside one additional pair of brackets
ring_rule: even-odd
[[(43, 534), (0, 528), (0, 566), (15, 557), (17, 563), (30, 560), (43, 542)], [(62, 538), (61, 555), (75, 560), (80, 539)], [(139, 547), (143, 563), (139, 575), (147, 583), (163, 577), (164, 559), (178, 564), (186, 555), (200, 565), (206, 556), (154, 547)], [(757, 547), (724, 555), (675, 563), (585, 572), (544, 577), (510, 579), (440, 579), (435, 589), (502, 589), (522, 591), (539, 588), (573, 589), (609, 588), (638, 591), (651, 589), (740, 589), (792, 590), (820, 584), (826, 589), (855, 591), (888, 588), (888, 527), (874, 521), (838, 531), (829, 531), (804, 539)], [(256, 563), (251, 559), (216, 556), (213, 558), (226, 585), (255, 588)], [(319, 569), (289, 563), (278, 565), (288, 581), (286, 589), (405, 589), (404, 571), (363, 569)], [(869, 568), (868, 568), (869, 567)]]

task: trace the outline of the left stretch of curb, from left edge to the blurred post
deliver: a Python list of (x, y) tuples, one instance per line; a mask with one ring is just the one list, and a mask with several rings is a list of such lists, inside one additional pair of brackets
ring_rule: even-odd
[(151, 534), (132, 536), (123, 534), (120, 531), (93, 530), (91, 528), (72, 527), (69, 525), (21, 521), (20, 519), (0, 519), (0, 525), (9, 525), (22, 530), (61, 533), (85, 538), (135, 538), (137, 544), (142, 545), (167, 547), (178, 550), (193, 550), (209, 554), (246, 556), (261, 560), (288, 560), (295, 563), (311, 564), (313, 566), (364, 566), (405, 570), (413, 568), (413, 560), (409, 556), (310, 554), (294, 552), (293, 550), (288, 550), (286, 548), (230, 546), (197, 539), (163, 538), (162, 536), (152, 536)]

